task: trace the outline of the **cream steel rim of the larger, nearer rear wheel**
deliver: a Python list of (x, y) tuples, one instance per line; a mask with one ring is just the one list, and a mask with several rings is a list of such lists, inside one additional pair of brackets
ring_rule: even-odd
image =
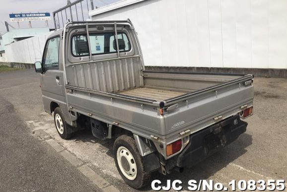
[(137, 177), (138, 169), (134, 156), (124, 146), (117, 150), (117, 161), (122, 174), (129, 180), (135, 180)]

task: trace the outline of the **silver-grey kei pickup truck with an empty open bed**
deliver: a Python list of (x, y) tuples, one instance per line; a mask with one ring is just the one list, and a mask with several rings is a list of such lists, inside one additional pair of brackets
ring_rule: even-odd
[(253, 114), (252, 74), (147, 71), (129, 19), (67, 23), (35, 70), (59, 135), (89, 128), (112, 139), (116, 167), (135, 189), (233, 142)]

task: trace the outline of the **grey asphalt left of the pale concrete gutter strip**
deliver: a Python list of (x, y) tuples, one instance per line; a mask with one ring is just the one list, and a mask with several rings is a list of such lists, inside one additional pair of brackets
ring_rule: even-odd
[(35, 87), (38, 81), (32, 70), (0, 73), (0, 191), (100, 191), (52, 147), (35, 138), (15, 109), (18, 104), (1, 96), (12, 90), (33, 111), (33, 97), (24, 98), (18, 90)]

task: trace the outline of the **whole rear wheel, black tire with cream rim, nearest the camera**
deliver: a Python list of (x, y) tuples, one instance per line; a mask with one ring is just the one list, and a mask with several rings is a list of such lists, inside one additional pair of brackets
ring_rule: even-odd
[(135, 139), (129, 135), (119, 136), (114, 143), (114, 159), (123, 180), (132, 188), (140, 189), (149, 182)]

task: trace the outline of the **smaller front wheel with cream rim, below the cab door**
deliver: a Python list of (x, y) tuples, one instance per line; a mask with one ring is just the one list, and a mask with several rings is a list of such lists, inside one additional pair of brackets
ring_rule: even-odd
[[(59, 119), (59, 116), (61, 119)], [(69, 139), (72, 136), (72, 128), (66, 123), (64, 114), (60, 107), (54, 110), (54, 123), (57, 132), (63, 139)], [(57, 127), (58, 126), (58, 127)], [(60, 130), (58, 130), (58, 128)]]

